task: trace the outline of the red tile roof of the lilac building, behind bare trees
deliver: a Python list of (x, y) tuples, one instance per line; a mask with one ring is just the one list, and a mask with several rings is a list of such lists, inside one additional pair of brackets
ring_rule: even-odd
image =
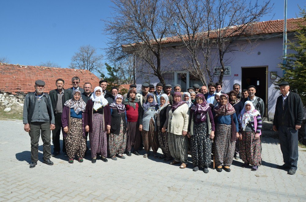
[[(287, 19), (287, 32), (294, 32), (299, 28), (298, 23), (302, 23), (306, 25), (306, 22), (303, 18), (290, 18)], [(231, 34), (231, 36), (238, 36), (240, 33), (235, 32), (238, 26), (233, 26), (226, 30), (227, 33), (235, 33)], [(284, 20), (270, 20), (263, 21), (252, 24), (252, 26), (247, 28), (247, 32), (243, 36), (252, 36), (252, 35), (261, 35), (261, 34), (273, 34), (273, 33), (282, 33), (284, 29)], [(210, 32), (210, 38), (216, 38), (217, 33), (215, 31)], [(185, 37), (187, 40), (187, 36)], [(167, 43), (175, 43), (181, 42), (181, 38), (178, 36), (163, 38), (161, 44)], [(153, 42), (154, 43), (154, 42)], [(130, 44), (135, 45), (135, 44)], [(122, 47), (129, 47), (130, 45), (122, 45)]]

